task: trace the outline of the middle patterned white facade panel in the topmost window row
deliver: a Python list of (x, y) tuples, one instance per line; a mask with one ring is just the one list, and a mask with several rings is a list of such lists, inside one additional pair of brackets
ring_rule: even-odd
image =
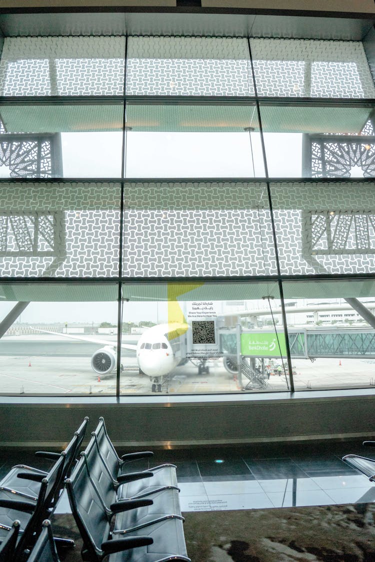
[(126, 93), (253, 96), (246, 39), (129, 37)]

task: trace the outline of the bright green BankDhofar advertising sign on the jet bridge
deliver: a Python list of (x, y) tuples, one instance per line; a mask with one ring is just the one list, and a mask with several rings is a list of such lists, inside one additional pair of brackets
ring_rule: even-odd
[(251, 332), (241, 334), (241, 355), (251, 357), (286, 357), (285, 334)]

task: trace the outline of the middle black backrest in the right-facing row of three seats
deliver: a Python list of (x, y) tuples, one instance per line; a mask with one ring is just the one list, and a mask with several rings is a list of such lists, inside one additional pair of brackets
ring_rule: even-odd
[(90, 439), (82, 455), (85, 459), (87, 470), (93, 484), (101, 495), (103, 504), (110, 510), (110, 505), (116, 501), (116, 488), (109, 473), (109, 469), (99, 454), (94, 436)]

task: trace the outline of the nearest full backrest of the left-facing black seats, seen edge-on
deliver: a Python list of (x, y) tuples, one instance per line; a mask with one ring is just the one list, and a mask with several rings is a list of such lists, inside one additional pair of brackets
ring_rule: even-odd
[(51, 514), (52, 498), (55, 496), (56, 487), (60, 484), (63, 468), (64, 455), (61, 455), (40, 484), (37, 504), (28, 524), (25, 526), (24, 532), (20, 534), (20, 539), (16, 546), (15, 560), (22, 560), (25, 549), (34, 545), (34, 533), (39, 531), (43, 520)]

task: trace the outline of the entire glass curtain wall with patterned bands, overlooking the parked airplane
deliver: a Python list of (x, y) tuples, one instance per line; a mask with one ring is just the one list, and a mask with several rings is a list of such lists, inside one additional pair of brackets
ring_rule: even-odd
[(375, 385), (362, 42), (5, 38), (2, 393)]

